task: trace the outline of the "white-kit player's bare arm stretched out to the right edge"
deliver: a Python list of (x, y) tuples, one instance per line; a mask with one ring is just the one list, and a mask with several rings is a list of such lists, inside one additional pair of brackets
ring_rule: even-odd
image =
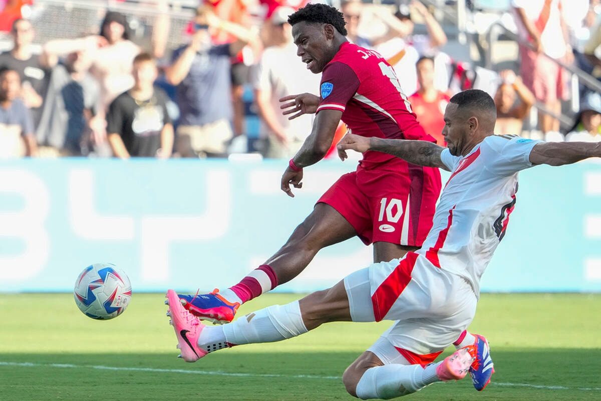
[(542, 142), (530, 152), (532, 164), (562, 166), (588, 158), (601, 158), (601, 142)]

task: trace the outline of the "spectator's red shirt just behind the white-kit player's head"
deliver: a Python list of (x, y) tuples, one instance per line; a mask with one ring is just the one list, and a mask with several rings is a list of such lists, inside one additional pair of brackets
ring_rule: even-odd
[(413, 111), (417, 115), (419, 124), (421, 124), (427, 133), (436, 139), (436, 143), (446, 146), (445, 138), (442, 135), (442, 129), (445, 126), (444, 112), (451, 98), (444, 92), (439, 92), (434, 102), (426, 102), (419, 92), (409, 96), (409, 102)]

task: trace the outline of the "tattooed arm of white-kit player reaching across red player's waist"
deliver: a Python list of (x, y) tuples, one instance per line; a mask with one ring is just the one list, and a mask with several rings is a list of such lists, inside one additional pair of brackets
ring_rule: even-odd
[(439, 167), (449, 170), (441, 160), (441, 152), (444, 147), (427, 141), (407, 141), (404, 139), (381, 139), (365, 138), (364, 136), (347, 133), (338, 142), (338, 156), (344, 160), (347, 158), (346, 150), (351, 149), (356, 152), (365, 153), (368, 150), (374, 152), (388, 153), (388, 155), (397, 156), (409, 163), (427, 166)]

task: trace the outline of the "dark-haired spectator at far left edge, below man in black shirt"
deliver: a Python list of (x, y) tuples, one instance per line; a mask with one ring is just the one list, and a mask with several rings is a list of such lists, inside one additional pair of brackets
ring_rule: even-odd
[(0, 156), (37, 156), (34, 124), (29, 109), (19, 99), (19, 72), (0, 70)]

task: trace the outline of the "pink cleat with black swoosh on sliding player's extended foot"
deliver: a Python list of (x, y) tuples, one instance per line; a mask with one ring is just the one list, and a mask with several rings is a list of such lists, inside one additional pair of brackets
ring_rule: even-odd
[(165, 304), (169, 305), (167, 316), (171, 316), (169, 324), (175, 329), (177, 347), (182, 351), (179, 356), (186, 362), (196, 362), (207, 355), (207, 351), (198, 346), (204, 325), (182, 306), (174, 290), (168, 290), (166, 298)]

